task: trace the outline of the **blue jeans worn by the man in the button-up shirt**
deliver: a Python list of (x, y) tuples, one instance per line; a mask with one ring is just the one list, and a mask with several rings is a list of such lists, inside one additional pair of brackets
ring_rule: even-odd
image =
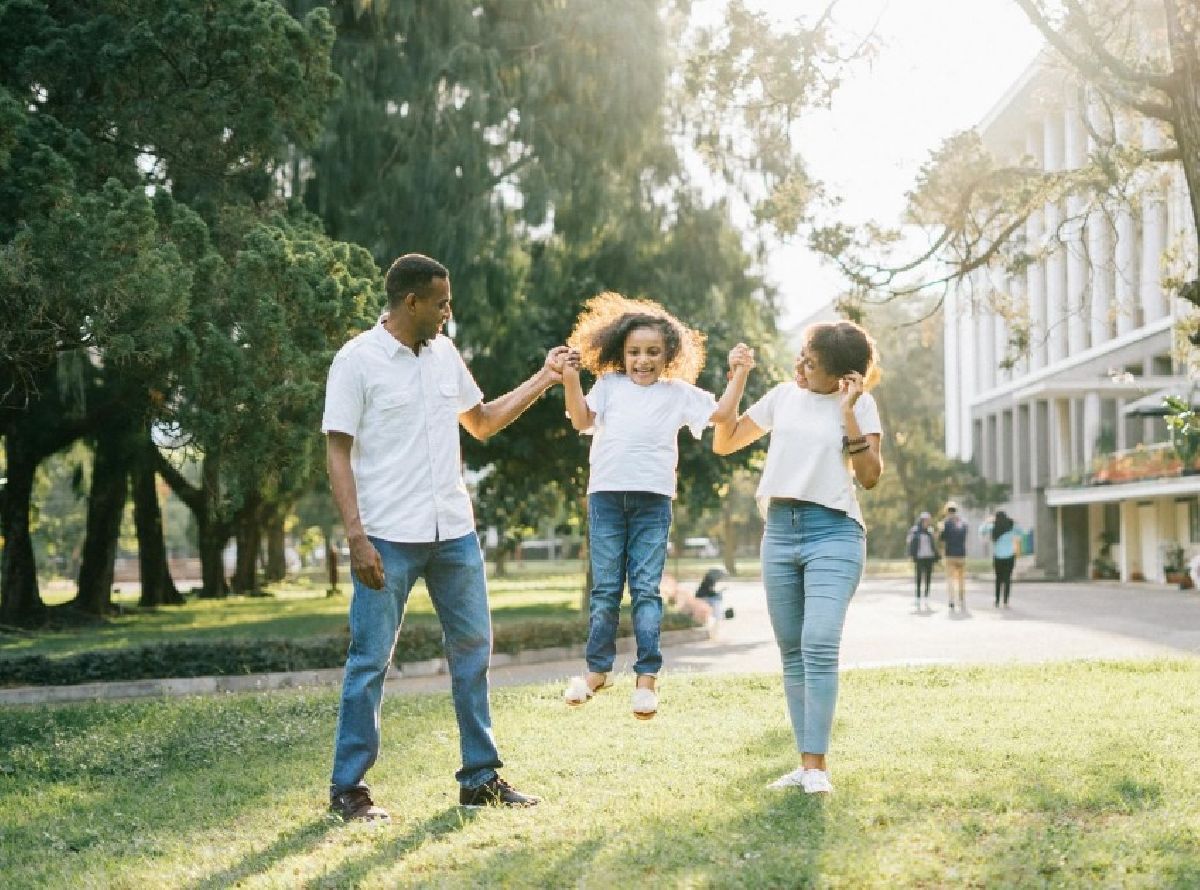
[(487, 668), (492, 655), (492, 618), (487, 608), (484, 555), (474, 534), (452, 541), (395, 543), (370, 539), (383, 558), (383, 590), (354, 578), (350, 602), (350, 651), (342, 679), (342, 704), (334, 746), (332, 794), (366, 788), (366, 772), (379, 757), (383, 681), (396, 648), (408, 594), (425, 578), (442, 623), (450, 667), (450, 690), (458, 720), (462, 769), (455, 778), (474, 788), (502, 766), (492, 736)]

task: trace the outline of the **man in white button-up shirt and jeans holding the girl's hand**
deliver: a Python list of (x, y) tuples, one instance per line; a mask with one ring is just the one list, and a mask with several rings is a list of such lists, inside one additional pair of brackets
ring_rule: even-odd
[(454, 343), (450, 273), (409, 253), (388, 270), (386, 317), (334, 359), (325, 392), (326, 458), (350, 543), (354, 599), (330, 808), (385, 819), (365, 776), (379, 754), (383, 681), (418, 577), (445, 635), (462, 768), (458, 802), (532, 806), (499, 777), (487, 669), (492, 626), (484, 560), (463, 485), (458, 425), (485, 440), (562, 381), (565, 347), (508, 395), (484, 402)]

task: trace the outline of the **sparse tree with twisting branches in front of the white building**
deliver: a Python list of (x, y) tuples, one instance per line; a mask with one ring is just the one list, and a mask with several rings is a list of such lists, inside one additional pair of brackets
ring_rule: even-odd
[[(1043, 64), (1066, 66), (1080, 89), (1091, 155), (1081, 167), (1045, 170), (1028, 160), (1010, 164), (995, 158), (974, 132), (948, 138), (931, 152), (910, 194), (908, 222), (931, 233), (922, 249), (912, 249), (899, 231), (874, 224), (856, 229), (835, 223), (811, 233), (811, 246), (846, 272), (854, 299), (906, 297), (931, 287), (944, 293), (985, 267), (1021, 273), (1078, 239), (1085, 222), (1111, 225), (1117, 209), (1134, 202), (1169, 164), (1181, 166), (1192, 221), (1200, 223), (1200, 20), (1195, 5), (1184, 0), (1016, 2), (1052, 49)], [(1040, 242), (1028, 239), (1030, 217), (1052, 204), (1066, 204), (1067, 214)], [(1193, 243), (1193, 253), (1195, 248)], [(1174, 283), (1180, 297), (1200, 306), (1200, 282)], [(1012, 362), (1030, 347), (1028, 319), (1002, 296), (990, 308), (1012, 321)], [(1192, 337), (1200, 343), (1200, 329)]]

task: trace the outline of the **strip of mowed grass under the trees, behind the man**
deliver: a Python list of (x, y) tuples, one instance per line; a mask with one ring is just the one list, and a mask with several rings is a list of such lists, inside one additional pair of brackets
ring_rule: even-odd
[[(492, 579), (488, 595), (496, 621), (563, 618), (580, 614), (583, 576)], [(47, 595), (47, 601), (66, 600)], [(271, 596), (190, 597), (184, 606), (142, 611), (137, 594), (116, 597), (126, 612), (102, 624), (36, 633), (0, 635), (0, 657), (13, 655), (73, 655), (166, 642), (218, 639), (302, 639), (347, 630), (350, 587), (325, 596), (312, 584), (281, 584)], [(424, 582), (409, 596), (406, 621), (433, 621), (433, 603)]]

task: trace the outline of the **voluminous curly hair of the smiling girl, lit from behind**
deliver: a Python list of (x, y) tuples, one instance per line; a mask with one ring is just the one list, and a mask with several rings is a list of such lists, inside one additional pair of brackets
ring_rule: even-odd
[(625, 338), (638, 327), (656, 327), (666, 344), (662, 377), (696, 383), (704, 367), (704, 335), (692, 330), (653, 300), (631, 300), (606, 290), (588, 300), (566, 345), (580, 350), (580, 363), (599, 377), (625, 371)]

